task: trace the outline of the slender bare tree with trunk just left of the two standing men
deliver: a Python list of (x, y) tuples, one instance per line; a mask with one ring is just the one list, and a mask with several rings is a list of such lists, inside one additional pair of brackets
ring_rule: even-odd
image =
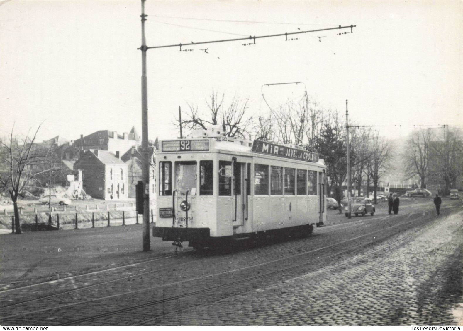
[(389, 169), (392, 156), (392, 148), (389, 141), (381, 137), (378, 131), (373, 133), (371, 139), (371, 159), (369, 162), (369, 173), (373, 181), (373, 203), (376, 203), (376, 191), (379, 179)]

